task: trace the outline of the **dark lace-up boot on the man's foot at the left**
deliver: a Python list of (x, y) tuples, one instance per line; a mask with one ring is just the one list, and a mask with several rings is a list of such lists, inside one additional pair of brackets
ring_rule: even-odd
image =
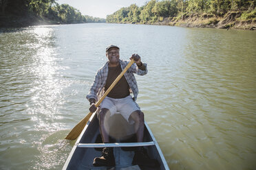
[(114, 167), (116, 166), (113, 147), (105, 147), (102, 151), (102, 156), (94, 158), (92, 163), (94, 167)]

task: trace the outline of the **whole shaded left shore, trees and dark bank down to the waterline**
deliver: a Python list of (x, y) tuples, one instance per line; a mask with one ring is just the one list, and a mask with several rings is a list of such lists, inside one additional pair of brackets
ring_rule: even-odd
[(0, 0), (0, 27), (28, 27), (71, 23), (105, 23), (105, 19), (82, 15), (57, 0)]

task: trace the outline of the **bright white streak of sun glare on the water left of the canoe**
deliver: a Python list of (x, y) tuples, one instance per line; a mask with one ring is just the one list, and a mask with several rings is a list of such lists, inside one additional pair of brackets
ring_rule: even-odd
[[(33, 32), (39, 43), (32, 45), (37, 52), (32, 56), (34, 63), (30, 67), (34, 82), (30, 90), (33, 95), (28, 114), (31, 114), (32, 121), (37, 122), (35, 130), (44, 132), (39, 141), (34, 141), (40, 154), (36, 156), (33, 166), (35, 169), (52, 169), (60, 161), (63, 162), (60, 152), (68, 148), (68, 143), (59, 136), (64, 125), (59, 109), (65, 104), (63, 89), (70, 86), (70, 82), (61, 78), (60, 71), (65, 68), (58, 64), (61, 58), (54, 45), (54, 29), (36, 27)], [(54, 135), (56, 137), (52, 138)]]

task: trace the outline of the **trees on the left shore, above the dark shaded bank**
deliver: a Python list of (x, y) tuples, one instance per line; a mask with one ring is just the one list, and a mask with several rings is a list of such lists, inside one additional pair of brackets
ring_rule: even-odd
[(56, 0), (0, 0), (0, 7), (0, 16), (30, 16), (56, 23), (105, 22), (105, 19), (84, 16), (70, 5), (59, 5)]

